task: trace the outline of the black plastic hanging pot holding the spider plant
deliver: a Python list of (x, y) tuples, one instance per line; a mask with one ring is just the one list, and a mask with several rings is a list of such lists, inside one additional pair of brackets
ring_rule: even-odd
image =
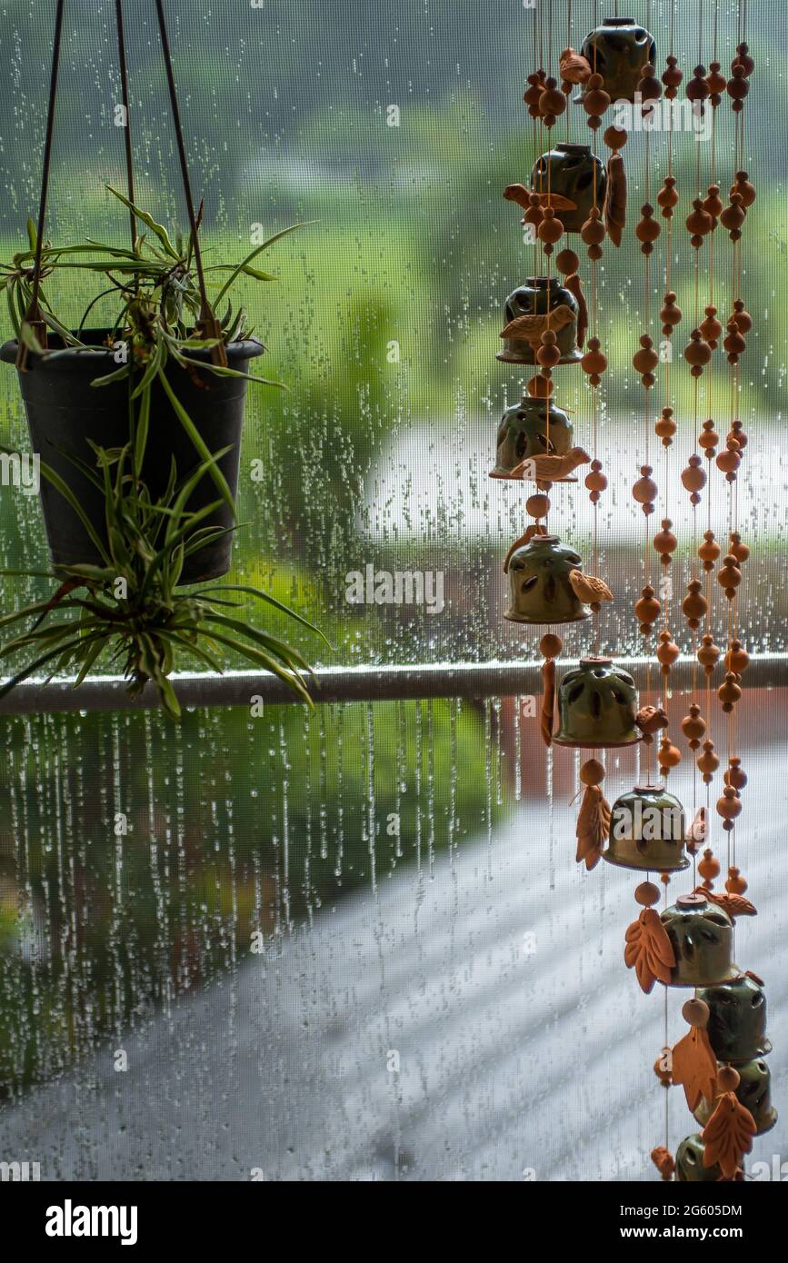
[[(29, 371), (19, 374), (33, 451), (67, 482), (100, 538), (106, 538), (104, 495), (68, 456), (77, 456), (92, 467), (96, 457), (87, 443), (88, 438), (101, 447), (122, 447), (129, 441), (128, 380), (106, 386), (91, 385), (96, 378), (106, 376), (119, 368), (115, 352), (102, 345), (106, 336), (107, 330), (82, 331), (81, 341), (95, 346), (95, 351), (69, 349), (56, 359), (30, 355)], [(61, 341), (51, 336), (49, 350), (61, 347)], [(261, 355), (263, 350), (260, 342), (232, 342), (227, 346), (227, 364), (231, 369), (246, 373), (248, 361)], [(16, 341), (6, 342), (0, 349), (0, 359), (6, 364), (15, 361)], [(192, 351), (189, 359), (207, 365), (210, 352)], [(165, 371), (173, 393), (192, 418), (208, 451), (216, 452), (230, 446), (230, 451), (218, 461), (218, 467), (235, 496), (248, 383), (240, 378), (217, 376), (208, 369), (194, 369), (194, 375), (191, 375), (174, 360), (168, 361)], [(143, 479), (154, 498), (167, 488), (173, 456), (178, 480), (201, 464), (201, 457), (160, 383), (155, 381), (150, 395), (150, 428), (143, 466)], [(53, 563), (100, 563), (101, 557), (78, 515), (45, 479), (42, 479), (40, 499)], [(192, 493), (188, 508), (200, 509), (216, 499), (216, 484), (206, 474)], [(229, 505), (222, 503), (215, 514), (200, 523), (201, 528), (205, 525), (231, 527)], [(230, 568), (232, 534), (229, 533), (187, 557), (181, 584), (197, 584), (225, 575)]]

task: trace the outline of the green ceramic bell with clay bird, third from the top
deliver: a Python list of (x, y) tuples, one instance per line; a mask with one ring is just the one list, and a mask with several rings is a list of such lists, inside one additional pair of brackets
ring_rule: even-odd
[(504, 350), (496, 359), (506, 364), (537, 364), (542, 333), (552, 328), (561, 351), (558, 364), (576, 364), (582, 360), (577, 347), (577, 312), (575, 294), (557, 277), (529, 277), (506, 299)]

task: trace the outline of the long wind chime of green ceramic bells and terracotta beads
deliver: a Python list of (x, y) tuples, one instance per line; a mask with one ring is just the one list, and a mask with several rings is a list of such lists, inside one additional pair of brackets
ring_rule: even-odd
[[(698, 64), (691, 75), (678, 66), (674, 54), (676, 0), (671, 6), (669, 30), (664, 33), (669, 52), (666, 68), (657, 77), (657, 45), (647, 25), (629, 18), (610, 18), (595, 25), (576, 52), (572, 47), (572, 13), (568, 6), (567, 47), (558, 57), (558, 75), (552, 76), (553, 23), (552, 0), (544, 19), (537, 18), (534, 53), (538, 69), (528, 76), (524, 101), (534, 120), (535, 153), (528, 184), (510, 184), (504, 197), (523, 210), (525, 241), (533, 244), (534, 275), (520, 284), (505, 302), (503, 349), (498, 359), (505, 364), (530, 365), (533, 375), (522, 399), (504, 412), (498, 432), (495, 467), (491, 477), (524, 480), (532, 484), (525, 500), (530, 524), (515, 541), (504, 561), (509, 581), (510, 605), (505, 618), (546, 628), (539, 642), (544, 693), (540, 716), (546, 745), (570, 746), (590, 751), (580, 767), (583, 792), (577, 817), (578, 863), (587, 870), (600, 858), (633, 871), (643, 880), (634, 895), (640, 913), (625, 935), (624, 960), (634, 970), (642, 990), (649, 994), (655, 983), (664, 986), (664, 1047), (654, 1071), (662, 1087), (681, 1085), (698, 1130), (679, 1144), (676, 1156), (668, 1144), (668, 1095), (664, 1101), (664, 1139), (655, 1146), (652, 1159), (663, 1180), (711, 1181), (744, 1178), (744, 1158), (753, 1137), (774, 1125), (770, 1103), (769, 1068), (764, 1056), (770, 1051), (765, 1033), (765, 997), (761, 980), (743, 973), (734, 964), (734, 927), (740, 916), (755, 913), (746, 899), (746, 882), (736, 868), (736, 820), (743, 810), (746, 775), (736, 745), (736, 707), (741, 700), (743, 673), (749, 658), (739, 638), (739, 591), (743, 566), (749, 549), (737, 529), (736, 479), (746, 448), (746, 434), (739, 418), (740, 357), (746, 349), (751, 318), (741, 296), (744, 224), (755, 201), (744, 169), (745, 100), (754, 62), (745, 42), (745, 5), (739, 0), (737, 43), (726, 77), (717, 59), (717, 5), (713, 5), (713, 37), (710, 69), (702, 64), (703, 0), (698, 4)], [(542, 11), (542, 10), (539, 10)], [(596, 14), (596, 4), (595, 4)], [(645, 117), (664, 97), (676, 110), (682, 85), (698, 121), (711, 111), (711, 162), (702, 169), (702, 147), (697, 150), (693, 187), (679, 189), (673, 173), (673, 124), (667, 128), (667, 174), (657, 192), (657, 208), (649, 201), (653, 153), (650, 133), (643, 130), (644, 202), (635, 221), (634, 240), (643, 258), (643, 332), (633, 356), (633, 366), (644, 390), (643, 436), (638, 477), (631, 495), (644, 515), (643, 589), (634, 605), (640, 633), (648, 647), (657, 633), (657, 647), (647, 655), (643, 697), (635, 682), (611, 657), (600, 653), (600, 611), (612, 594), (597, 576), (597, 505), (607, 488), (602, 464), (597, 458), (599, 388), (607, 359), (597, 336), (597, 264), (604, 246), (621, 248), (626, 226), (626, 177), (623, 150), (628, 131), (610, 125), (602, 131), (609, 150), (606, 160), (597, 153), (597, 133), (611, 102), (626, 101)], [(573, 96), (573, 93), (576, 93)], [(717, 114), (726, 104), (732, 119), (734, 165), (727, 205), (717, 183)], [(578, 109), (580, 107), (580, 109)], [(664, 106), (663, 106), (664, 109)], [(582, 114), (581, 114), (582, 111)], [(585, 115), (590, 143), (572, 143), (572, 115)], [(552, 143), (553, 128), (564, 116), (564, 143)], [(635, 115), (633, 114), (631, 117)], [(726, 147), (730, 154), (731, 147)], [(703, 181), (708, 179), (706, 187)], [(671, 770), (682, 760), (679, 748), (667, 733), (671, 669), (679, 657), (673, 639), (672, 568), (678, 539), (667, 515), (668, 496), (663, 491), (666, 517), (652, 536), (650, 515), (659, 490), (654, 480), (657, 453), (662, 451), (666, 489), (671, 480), (671, 447), (677, 432), (672, 380), (672, 338), (684, 320), (672, 288), (674, 258), (673, 221), (679, 213), (679, 198), (691, 207), (686, 216), (693, 251), (692, 330), (683, 350), (691, 375), (693, 424), (697, 447), (681, 472), (681, 484), (690, 494), (693, 538), (690, 580), (681, 611), (692, 640), (691, 702), (681, 731), (692, 757), (693, 812), (687, 825), (684, 808), (667, 789)], [(660, 222), (662, 220), (662, 222)], [(568, 245), (577, 235), (590, 260), (590, 302), (580, 277), (580, 258)], [(724, 240), (727, 236), (729, 242)], [(658, 312), (664, 354), (654, 349), (652, 328), (652, 265), (657, 242), (664, 245), (664, 299)], [(725, 328), (715, 306), (715, 245), (725, 249), (724, 268), (731, 308)], [(701, 260), (701, 254), (706, 259)], [(717, 260), (719, 263), (719, 260)], [(701, 313), (701, 278), (707, 285)], [(590, 336), (587, 336), (590, 335)], [(720, 442), (713, 410), (716, 398), (715, 360), (726, 357), (725, 395), (729, 433)], [(553, 370), (567, 371), (580, 364), (591, 388), (590, 453), (575, 442), (573, 427), (564, 409), (553, 399)], [(664, 405), (652, 404), (660, 374)], [(703, 405), (701, 408), (701, 405)], [(700, 423), (701, 414), (707, 416)], [(654, 438), (657, 451), (652, 455)], [(640, 464), (642, 461), (642, 464)], [(706, 469), (703, 469), (706, 464)], [(548, 527), (551, 493), (554, 484), (577, 485), (577, 471), (588, 466), (585, 486), (594, 506), (591, 573), (583, 568), (580, 552), (571, 542)], [(729, 547), (722, 554), (712, 530), (712, 500), (720, 490), (726, 495)], [(706, 490), (706, 528), (698, 543), (698, 506)], [(713, 493), (713, 495), (712, 495)], [(552, 519), (551, 519), (552, 520)], [(658, 567), (659, 575), (654, 575)], [(716, 568), (717, 584), (713, 584)], [(726, 652), (715, 644), (712, 634), (713, 595), (726, 604)], [(582, 657), (556, 682), (556, 661), (563, 644), (554, 630), (568, 623), (592, 619), (594, 650)], [(716, 687), (725, 716), (727, 767), (724, 784), (711, 811), (711, 787), (720, 768), (720, 757), (710, 736), (713, 676), (720, 658), (725, 674)], [(653, 674), (658, 667), (658, 685)], [(698, 672), (705, 679), (705, 707), (701, 711)], [(556, 719), (557, 715), (557, 719)], [(662, 735), (660, 735), (662, 734)], [(655, 749), (655, 741), (659, 741)], [(606, 775), (604, 751), (640, 743), (644, 750), (644, 783), (621, 793), (609, 806), (602, 782)], [(700, 753), (698, 753), (700, 751)], [(657, 781), (654, 754), (659, 772)], [(703, 783), (703, 802), (698, 802), (698, 773)], [(711, 847), (711, 822), (716, 815), (725, 835), (727, 879), (725, 889), (715, 889), (721, 865)], [(697, 859), (702, 849), (702, 858)], [(672, 874), (692, 868), (686, 893), (668, 899)], [(662, 912), (659, 885), (649, 879), (659, 874), (663, 885)], [(682, 1008), (688, 1031), (673, 1047), (668, 1041), (669, 988), (691, 988), (693, 998)]]

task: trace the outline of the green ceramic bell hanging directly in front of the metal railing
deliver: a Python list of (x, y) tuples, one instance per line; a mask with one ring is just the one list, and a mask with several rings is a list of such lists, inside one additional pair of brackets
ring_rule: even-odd
[(592, 749), (634, 745), (638, 692), (633, 677), (611, 658), (581, 658), (558, 686), (557, 745)]

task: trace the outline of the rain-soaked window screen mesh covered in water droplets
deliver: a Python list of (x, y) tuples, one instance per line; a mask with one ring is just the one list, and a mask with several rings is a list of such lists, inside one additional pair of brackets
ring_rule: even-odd
[[(630, 9), (654, 32), (662, 66), (669, 6)], [(678, 9), (676, 53), (690, 75), (698, 5), (679, 0)], [(712, 8), (702, 9), (707, 63)], [(260, 362), (289, 389), (248, 395), (234, 578), (272, 590), (326, 632), (331, 652), (273, 621), (314, 663), (535, 658), (538, 634), (501, 616), (501, 562), (528, 524), (527, 493), (487, 475), (500, 414), (523, 384), (516, 366), (495, 360), (504, 299), (540, 270), (501, 191), (528, 183), (546, 148), (520, 100), (546, 16), (539, 25), (516, 0), (215, 0), (207, 9), (170, 0), (167, 10), (192, 182), (205, 197), (206, 258), (240, 259), (259, 230), (304, 221), (266, 255), (279, 279), (240, 285), (266, 346)], [(554, 3), (552, 14), (557, 54), (568, 42), (567, 6)], [(6, 6), (1, 19), (4, 259), (38, 205), (52, 16), (53, 5), (35, 0)], [(596, 16), (599, 6), (575, 0), (575, 47)], [(129, 5), (126, 23), (136, 198), (183, 226), (153, 4)], [(745, 153), (758, 201), (743, 273), (754, 327), (739, 403), (749, 448), (737, 522), (751, 549), (739, 629), (750, 652), (773, 654), (785, 649), (787, 606), (783, 24), (765, 0), (748, 4), (756, 75)], [(724, 69), (735, 42), (734, 6), (720, 4)], [(120, 240), (126, 230), (105, 187), (124, 187), (119, 100), (114, 6), (71, 0), (53, 241)], [(389, 125), (393, 106), (398, 125)], [(557, 139), (583, 140), (581, 115), (571, 107)], [(716, 136), (724, 192), (731, 117), (726, 102)], [(673, 633), (684, 652), (691, 638), (678, 605), (693, 539), (707, 524), (724, 538), (730, 524), (721, 477), (695, 520), (678, 480), (697, 433), (681, 360), (687, 318), (674, 337), (678, 429), (667, 457), (652, 440), (660, 498), (645, 525), (630, 496), (647, 458), (630, 362), (645, 304), (631, 225), (647, 177), (652, 201), (660, 187), (667, 136), (650, 138), (648, 163), (645, 153), (643, 135), (630, 138), (625, 248), (606, 246), (599, 269), (610, 369), (595, 455), (610, 485), (597, 565), (616, 596), (602, 614), (601, 649), (618, 657), (643, 649), (633, 604), (658, 519), (668, 515), (679, 539)], [(687, 134), (674, 140), (682, 213), (672, 283), (686, 312), (693, 272), (684, 201), (698, 164), (703, 188), (711, 182), (710, 155)], [(731, 251), (717, 237), (724, 312)], [(585, 259), (581, 272), (587, 282)], [(655, 336), (663, 290), (660, 242), (649, 289)], [(72, 322), (93, 296), (78, 277), (53, 290)], [(8, 321), (3, 328), (10, 335)], [(583, 374), (557, 369), (556, 381), (587, 446)], [(719, 416), (722, 437), (725, 381), (720, 370), (712, 394), (705, 381), (698, 403), (701, 422)], [(0, 441), (27, 451), (6, 365), (0, 409)], [(554, 488), (552, 513), (590, 556), (582, 480)], [(3, 488), (0, 554), (9, 570), (45, 568), (38, 498), (16, 488)], [(443, 599), (432, 608), (349, 602), (351, 576), (370, 567), (439, 573)], [(51, 585), (6, 577), (3, 591), (6, 610)], [(715, 602), (720, 639), (721, 594)], [(588, 634), (568, 628), (566, 654), (583, 652)], [(788, 1039), (782, 697), (745, 690), (737, 743), (750, 784), (736, 851), (759, 907), (739, 923), (736, 954), (768, 984), (778, 1109)], [(51, 1178), (248, 1180), (258, 1168), (274, 1180), (519, 1180), (530, 1170), (538, 1180), (650, 1178), (648, 1153), (664, 1132), (652, 1071), (663, 1005), (638, 991), (623, 962), (631, 874), (576, 868), (570, 799), (580, 759), (546, 753), (522, 701), (369, 702), (308, 715), (282, 706), (261, 717), (216, 707), (189, 712), (178, 729), (158, 714), (3, 717), (9, 1153), (40, 1161)], [(686, 705), (679, 693), (672, 700), (674, 730)], [(716, 701), (712, 735), (724, 751)], [(633, 783), (638, 760), (611, 751), (611, 793)], [(705, 801), (691, 759), (671, 782), (688, 811)], [(128, 832), (116, 832), (120, 816)], [(722, 856), (721, 832), (713, 841)], [(683, 1033), (682, 998), (668, 997), (671, 1042)], [(128, 1071), (115, 1070), (119, 1051)], [(672, 1146), (692, 1130), (672, 1092)], [(780, 1122), (755, 1156), (779, 1153), (783, 1142)]]

